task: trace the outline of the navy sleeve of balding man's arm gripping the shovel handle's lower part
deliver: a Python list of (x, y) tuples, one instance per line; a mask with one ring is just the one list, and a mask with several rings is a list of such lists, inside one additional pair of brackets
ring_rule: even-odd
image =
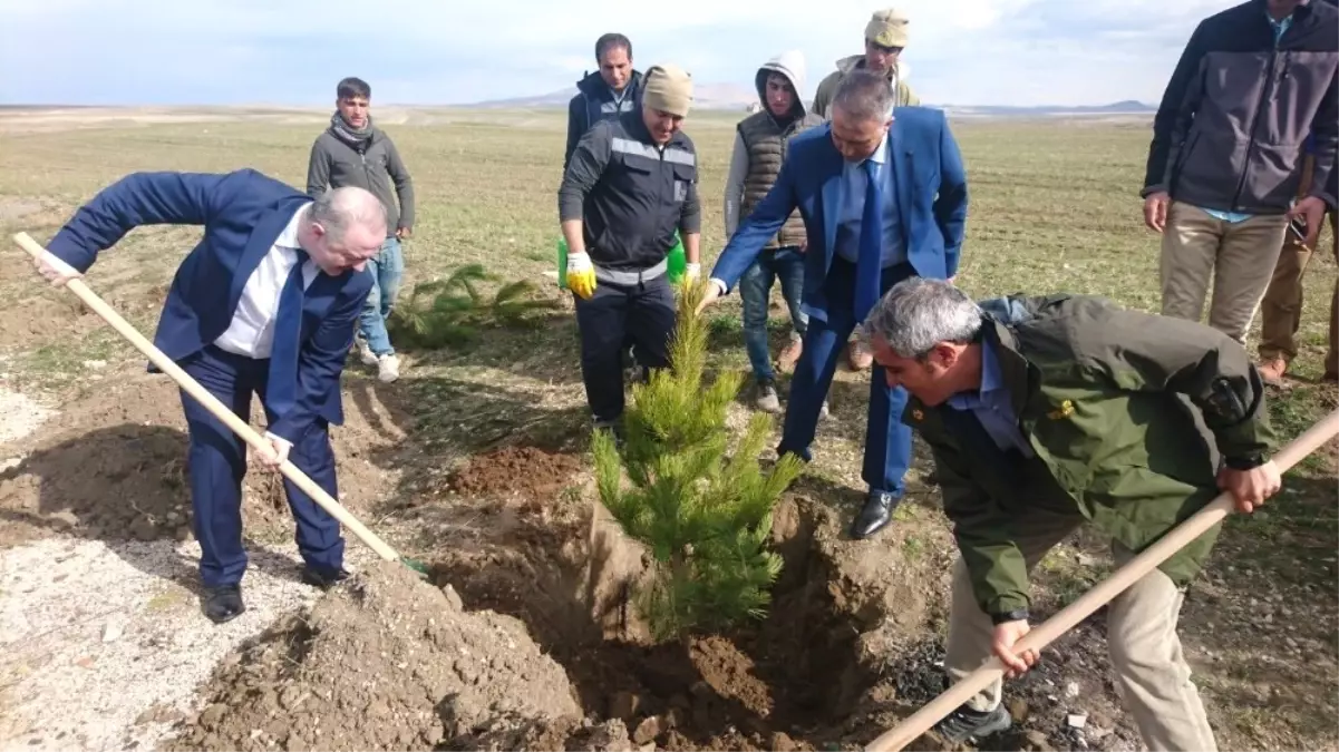
[[(368, 274), (368, 272), (355, 272)], [(299, 443), (320, 415), (332, 389), (339, 389), (339, 376), (344, 360), (353, 347), (353, 329), (359, 312), (367, 301), (372, 285), (370, 280), (355, 280), (362, 292), (349, 293), (336, 301), (309, 340), (297, 353), (297, 400), (293, 408), (269, 426), (276, 436)]]

